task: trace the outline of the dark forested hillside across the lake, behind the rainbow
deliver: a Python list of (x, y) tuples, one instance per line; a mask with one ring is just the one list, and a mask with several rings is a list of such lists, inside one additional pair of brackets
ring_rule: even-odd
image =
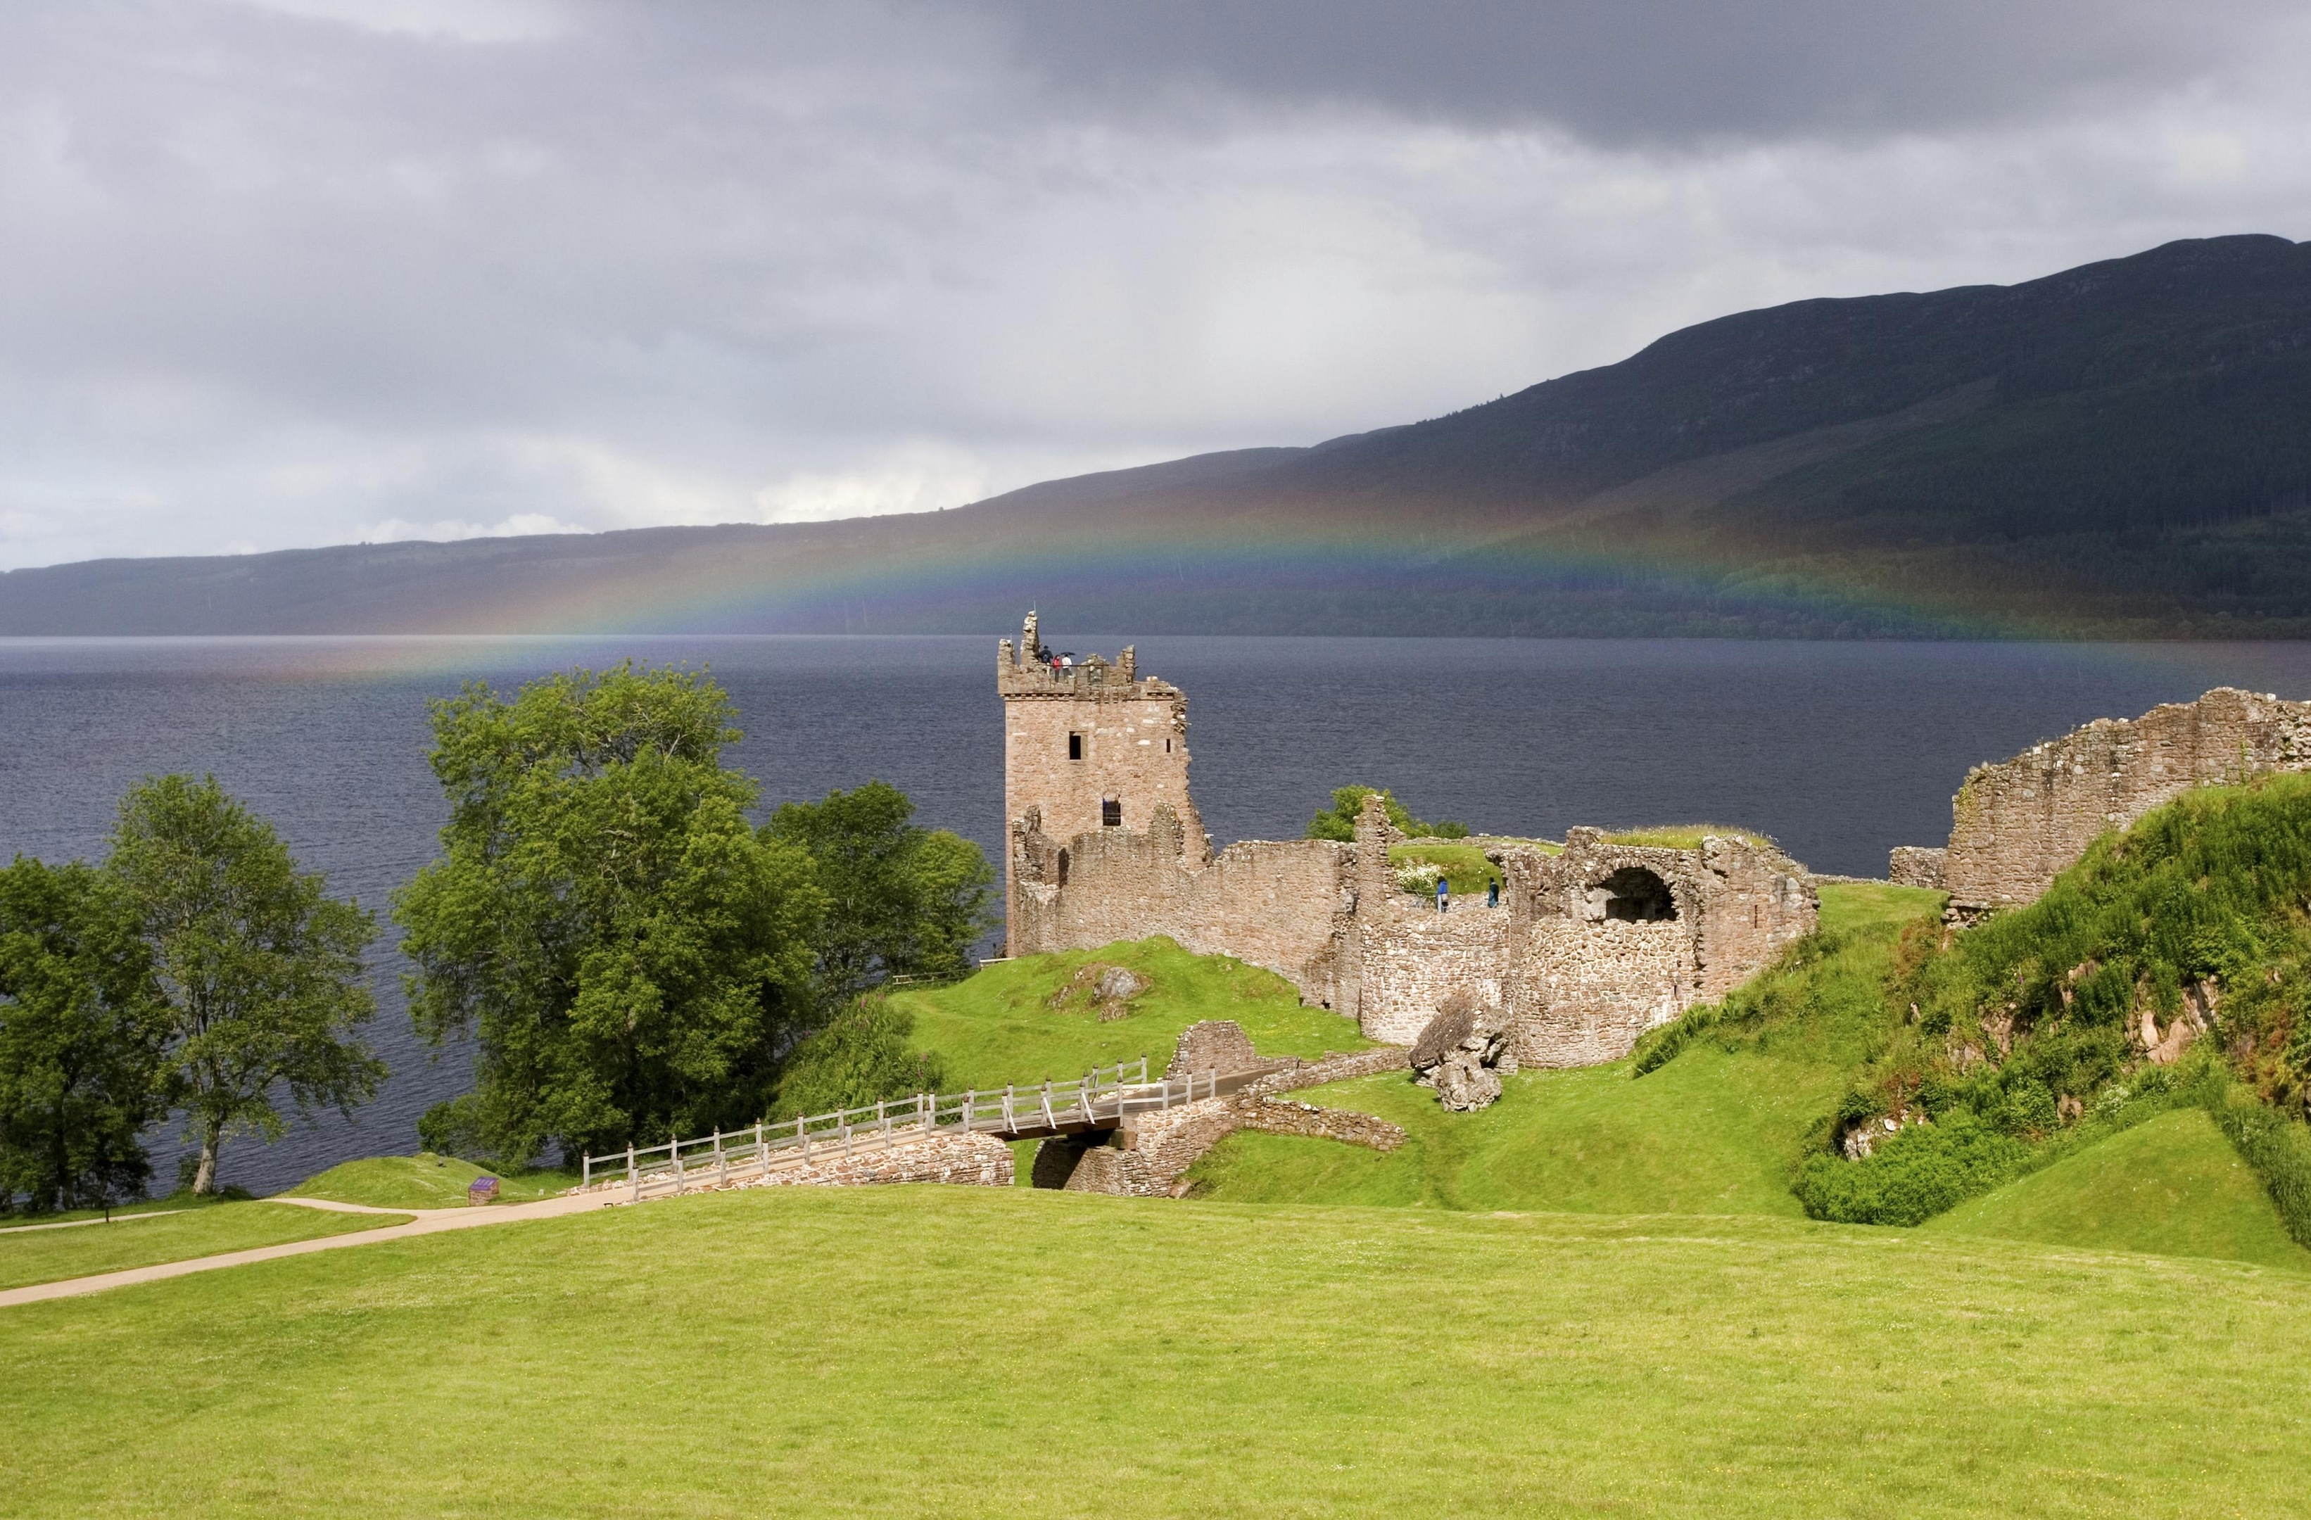
[(116, 559), (0, 633), (2311, 633), (2311, 245), (1803, 300), (1315, 448), (786, 527)]

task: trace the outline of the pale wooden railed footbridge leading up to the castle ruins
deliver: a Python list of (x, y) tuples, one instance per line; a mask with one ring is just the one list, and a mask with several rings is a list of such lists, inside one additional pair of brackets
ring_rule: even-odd
[(707, 1192), (774, 1171), (809, 1167), (837, 1155), (864, 1155), (952, 1134), (991, 1134), (1003, 1141), (1052, 1139), (1114, 1130), (1132, 1113), (1156, 1113), (1234, 1093), (1266, 1067), (1190, 1072), (1149, 1079), (1149, 1063), (1119, 1063), (1077, 1081), (1035, 1088), (917, 1093), (867, 1109), (811, 1113), (779, 1125), (670, 1139), (663, 1146), (587, 1155), (582, 1192), (624, 1190), (633, 1201)]

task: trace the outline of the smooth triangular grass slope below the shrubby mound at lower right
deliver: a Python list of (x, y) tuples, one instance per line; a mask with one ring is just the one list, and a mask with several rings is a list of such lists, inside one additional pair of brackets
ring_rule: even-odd
[(2205, 1109), (2124, 1130), (1923, 1229), (2311, 1271), (2311, 1252), (2288, 1238), (2262, 1183)]

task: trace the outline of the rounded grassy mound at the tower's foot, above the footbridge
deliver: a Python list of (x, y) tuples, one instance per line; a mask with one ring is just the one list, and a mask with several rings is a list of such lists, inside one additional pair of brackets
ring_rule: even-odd
[[(1052, 1005), (1086, 963), (1123, 966), (1149, 982), (1123, 1019), (1102, 1021), (1091, 998)], [(1301, 1007), (1283, 977), (1232, 956), (1195, 956), (1167, 938), (1130, 940), (982, 968), (952, 986), (908, 989), (892, 1003), (915, 1014), (913, 1042), (948, 1063), (948, 1088), (1001, 1088), (1072, 1079), (1119, 1060), (1172, 1060), (1179, 1033), (1199, 1019), (1234, 1019), (1262, 1056), (1324, 1056), (1370, 1044), (1322, 1007)]]

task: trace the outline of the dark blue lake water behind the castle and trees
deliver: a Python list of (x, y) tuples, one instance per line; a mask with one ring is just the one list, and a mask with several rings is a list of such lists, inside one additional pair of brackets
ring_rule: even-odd
[[(1058, 633), (1084, 654), (1128, 642)], [(0, 640), (0, 852), (95, 859), (127, 783), (213, 772), (305, 866), (384, 910), (444, 818), (425, 702), (622, 656), (712, 665), (767, 806), (880, 776), (1001, 862), (991, 635)], [(1361, 781), (1504, 834), (1747, 825), (1851, 876), (1941, 843), (1978, 760), (2207, 686), (2311, 695), (2311, 644), (1149, 638), (1139, 668), (1188, 691), (1195, 797), (1223, 845), (1292, 839), (1329, 788)], [(416, 1116), (469, 1086), (469, 1051), (411, 1037), (400, 970), (386, 926), (381, 1097), (229, 1146), (226, 1180), (268, 1192), (407, 1153)]]

